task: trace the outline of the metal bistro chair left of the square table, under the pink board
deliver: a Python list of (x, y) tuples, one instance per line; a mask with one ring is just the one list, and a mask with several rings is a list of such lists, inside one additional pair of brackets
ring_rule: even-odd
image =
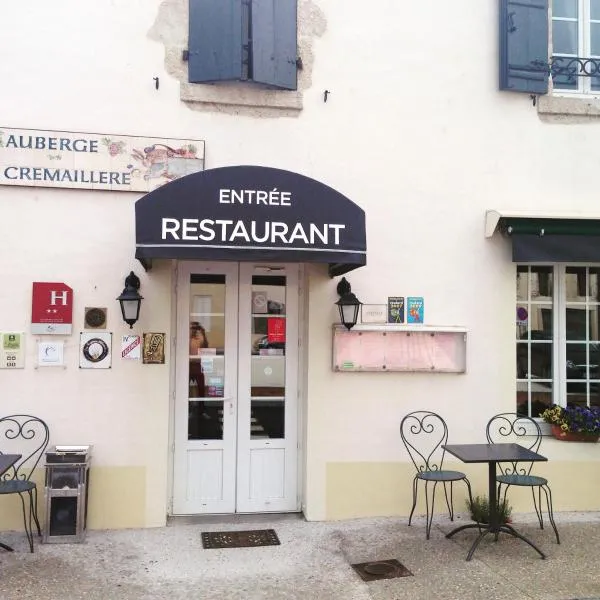
[[(413, 505), (408, 517), (408, 524), (411, 524), (412, 516), (417, 506), (419, 481), (423, 481), (425, 482), (425, 509), (427, 513), (426, 535), (427, 539), (429, 539), (437, 484), (441, 483), (444, 486), (444, 496), (446, 497), (446, 506), (448, 507), (451, 521), (454, 521), (453, 483), (455, 481), (465, 482), (469, 492), (469, 500), (472, 504), (471, 484), (467, 476), (461, 471), (447, 471), (442, 468), (446, 453), (442, 446), (448, 441), (448, 426), (440, 415), (429, 411), (409, 413), (400, 423), (400, 436), (417, 470), (413, 479)], [(429, 510), (430, 483), (433, 483), (431, 512)], [(448, 498), (448, 489), (446, 487), (448, 483), (450, 484), (450, 498)]]

